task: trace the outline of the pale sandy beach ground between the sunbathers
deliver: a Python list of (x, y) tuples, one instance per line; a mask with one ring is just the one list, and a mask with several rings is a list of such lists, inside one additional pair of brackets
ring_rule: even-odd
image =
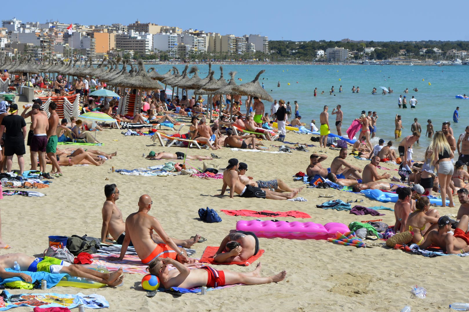
[[(21, 103), (19, 103), (21, 104)], [(20, 108), (20, 112), (22, 109)], [(188, 129), (189, 122), (181, 131)], [(28, 125), (29, 126), (29, 125)], [(188, 175), (169, 177), (128, 176), (112, 173), (116, 169), (135, 169), (164, 164), (167, 160), (146, 160), (142, 154), (171, 151), (185, 152), (182, 147), (161, 147), (153, 145), (149, 137), (124, 136), (121, 130), (105, 130), (97, 134), (98, 141), (104, 146), (98, 149), (104, 152), (117, 151), (118, 155), (107, 160), (102, 166), (62, 167), (64, 172), (55, 178), (47, 189), (38, 189), (44, 197), (5, 196), (0, 201), (2, 216), (2, 235), (12, 248), (0, 250), (0, 254), (24, 252), (42, 254), (48, 246), (49, 235), (72, 234), (99, 237), (101, 231), (101, 208), (105, 201), (104, 186), (116, 183), (120, 190), (117, 204), (124, 219), (137, 210), (139, 196), (149, 194), (153, 200), (150, 214), (157, 217), (166, 232), (175, 238), (186, 239), (196, 233), (208, 240), (197, 243), (192, 248), (197, 250), (199, 258), (207, 246), (219, 246), (221, 240), (234, 229), (236, 221), (251, 220), (254, 217), (227, 216), (221, 209), (237, 210), (299, 210), (310, 214), (311, 218), (277, 218), (285, 221), (303, 221), (325, 224), (382, 218), (389, 225), (394, 224), (394, 215), (389, 210), (382, 217), (370, 215), (356, 216), (348, 211), (323, 210), (316, 205), (330, 199), (363, 199), (360, 205), (371, 207), (383, 205), (393, 207), (393, 203), (378, 203), (366, 199), (363, 195), (341, 192), (334, 189), (303, 189), (299, 194), (307, 202), (276, 201), (268, 199), (240, 198), (230, 199), (220, 193), (221, 180), (200, 179)], [(300, 135), (292, 131), (286, 140), (310, 144), (310, 135)], [(266, 142), (267, 151), (278, 151), (271, 145), (279, 142)], [(318, 145), (318, 143), (315, 143)], [(63, 145), (62, 145), (63, 146)], [(62, 147), (59, 145), (59, 148)], [(232, 151), (221, 148), (217, 151), (191, 148), (189, 155), (209, 156), (212, 152), (220, 158), (205, 160), (206, 165), (214, 164), (220, 168), (227, 165), (230, 158), (248, 164), (248, 175), (256, 180), (280, 178), (291, 187), (303, 186), (301, 181), (293, 181), (293, 175), (306, 171), (310, 154), (319, 152), (319, 147), (309, 147), (308, 152), (268, 153), (250, 151)], [(328, 159), (322, 164), (329, 167), (338, 151), (325, 150)], [(29, 168), (29, 148), (26, 148), (25, 168)], [(13, 168), (17, 169), (16, 157)], [(347, 161), (358, 167), (364, 167), (369, 161), (357, 160), (352, 156)], [(187, 160), (193, 167), (203, 167), (204, 161)], [(208, 166), (212, 167), (212, 166)], [(384, 164), (387, 171), (397, 175), (397, 166)], [(47, 166), (50, 170), (50, 165)], [(383, 170), (378, 170), (382, 174)], [(321, 194), (332, 194), (333, 198), (318, 198)], [(352, 207), (353, 207), (352, 203)], [(438, 207), (440, 215), (456, 213), (455, 208)], [(220, 223), (204, 223), (199, 220), (197, 210), (210, 207), (223, 219)], [(263, 218), (270, 220), (272, 218)], [(207, 292), (205, 296), (185, 294), (173, 297), (168, 293), (158, 293), (153, 298), (145, 297), (140, 286), (142, 275), (124, 274), (124, 285), (118, 288), (78, 289), (55, 287), (52, 292), (76, 294), (98, 293), (109, 301), (109, 311), (401, 311), (410, 305), (412, 311), (447, 310), (453, 302), (466, 302), (467, 294), (462, 291), (465, 265), (469, 261), (458, 256), (440, 256), (426, 258), (408, 254), (401, 250), (387, 247), (356, 248), (341, 246), (325, 240), (265, 239), (261, 238), (260, 248), (265, 254), (259, 259), (263, 264), (262, 275), (273, 275), (283, 269), (287, 278), (280, 283), (256, 286), (235, 286)], [(256, 262), (257, 263), (257, 262)], [(219, 265), (217, 269), (230, 269), (239, 272), (251, 271), (256, 263), (249, 267)], [(462, 282), (462, 283), (461, 283)], [(414, 297), (410, 290), (415, 285), (427, 290), (425, 299)], [(20, 294), (24, 290), (8, 290)], [(46, 292), (33, 290), (35, 293)], [(14, 311), (31, 311), (31, 308), (19, 307)], [(76, 309), (77, 310), (77, 309)]]

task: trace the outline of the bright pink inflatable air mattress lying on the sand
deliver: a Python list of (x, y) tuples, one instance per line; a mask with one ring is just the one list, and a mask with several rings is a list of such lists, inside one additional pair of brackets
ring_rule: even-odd
[(335, 238), (336, 232), (350, 231), (347, 225), (335, 222), (322, 225), (314, 222), (258, 220), (239, 220), (236, 222), (236, 230), (253, 232), (257, 237), (286, 239), (328, 239)]

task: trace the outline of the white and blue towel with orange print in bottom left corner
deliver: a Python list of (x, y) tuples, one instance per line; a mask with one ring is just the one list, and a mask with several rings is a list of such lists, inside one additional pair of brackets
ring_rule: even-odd
[(18, 306), (29, 306), (31, 308), (67, 307), (73, 309), (78, 307), (78, 305), (84, 305), (85, 308), (91, 309), (109, 307), (105, 297), (97, 294), (87, 296), (81, 292), (76, 295), (56, 293), (12, 295), (7, 290), (3, 290), (0, 294), (0, 311), (6, 311)]

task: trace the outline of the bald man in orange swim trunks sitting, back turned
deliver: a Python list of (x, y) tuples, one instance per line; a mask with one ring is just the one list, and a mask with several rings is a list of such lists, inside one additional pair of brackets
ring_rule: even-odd
[[(148, 264), (158, 257), (172, 258), (182, 263), (189, 262), (184, 248), (180, 249), (177, 247), (173, 239), (166, 234), (163, 227), (159, 224), (158, 219), (148, 214), (152, 204), (153, 201), (150, 195), (144, 194), (140, 196), (138, 211), (131, 213), (125, 220), (125, 237), (122, 242), (121, 255), (119, 258), (108, 258), (110, 261), (122, 260), (132, 240), (135, 251), (144, 264)], [(153, 231), (158, 233), (165, 244), (155, 243), (152, 237)]]

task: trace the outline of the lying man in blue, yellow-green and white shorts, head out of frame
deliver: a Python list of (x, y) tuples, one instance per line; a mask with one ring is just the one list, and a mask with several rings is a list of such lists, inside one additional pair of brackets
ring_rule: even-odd
[(27, 254), (4, 254), (0, 256), (0, 277), (3, 279), (21, 277), (25, 282), (31, 282), (31, 276), (20, 272), (7, 272), (5, 268), (13, 268), (15, 261), (20, 265), (20, 271), (65, 273), (71, 276), (89, 278), (95, 282), (117, 286), (122, 283), (124, 276), (122, 268), (115, 272), (101, 273), (78, 264), (71, 264), (52, 257), (34, 258)]

